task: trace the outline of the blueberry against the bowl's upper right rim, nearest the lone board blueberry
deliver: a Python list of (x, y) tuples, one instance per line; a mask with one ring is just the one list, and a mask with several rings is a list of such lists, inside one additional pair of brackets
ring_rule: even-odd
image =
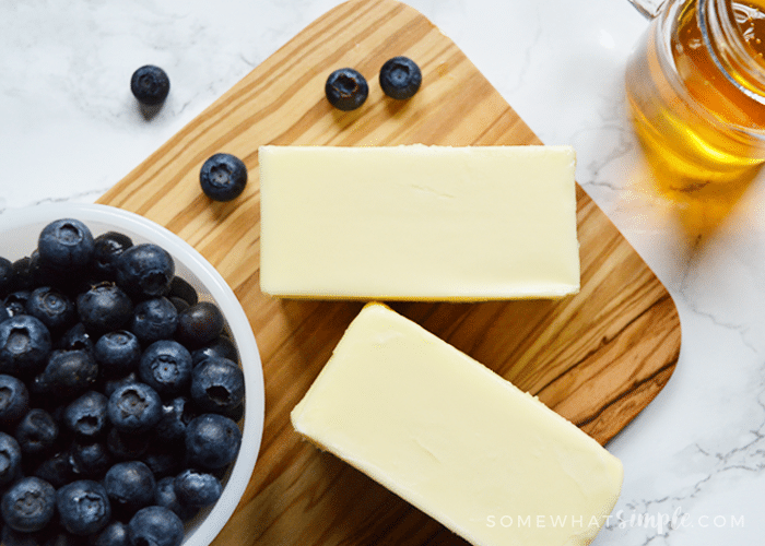
[(117, 283), (139, 299), (166, 295), (174, 276), (173, 257), (151, 242), (130, 247), (117, 261)]

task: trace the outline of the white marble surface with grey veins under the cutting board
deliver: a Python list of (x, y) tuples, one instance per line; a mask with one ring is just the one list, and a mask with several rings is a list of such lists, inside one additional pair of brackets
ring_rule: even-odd
[[(0, 1), (0, 214), (95, 201), (337, 0)], [(627, 0), (411, 0), (548, 144), (667, 285), (683, 344), (672, 380), (611, 444), (622, 498), (599, 546), (765, 537), (765, 202), (727, 214), (659, 194), (625, 118), (623, 70), (646, 21)], [(214, 5), (214, 7), (213, 7)], [(151, 120), (132, 71), (165, 68)], [(715, 222), (709, 218), (719, 216)], [(658, 525), (679, 515), (678, 525)], [(681, 524), (682, 523), (682, 524)]]

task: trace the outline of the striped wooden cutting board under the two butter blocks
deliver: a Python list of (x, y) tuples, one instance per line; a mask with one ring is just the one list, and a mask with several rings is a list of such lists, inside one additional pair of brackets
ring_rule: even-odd
[[(408, 102), (387, 98), (377, 83), (381, 64), (398, 55), (423, 70), (422, 88)], [(360, 70), (369, 82), (369, 97), (356, 111), (341, 112), (325, 99), (327, 75), (341, 67)], [(540, 141), (419, 12), (393, 0), (351, 0), (301, 32), (99, 200), (149, 217), (196, 247), (229, 283), (252, 325), (266, 383), (262, 447), (216, 545), (463, 544), (302, 441), (290, 425), (290, 411), (363, 304), (261, 294), (257, 151), (268, 143)], [(239, 156), (249, 169), (245, 193), (229, 203), (212, 202), (200, 191), (199, 169), (216, 152)], [(581, 188), (577, 198), (582, 271), (577, 296), (391, 306), (605, 443), (669, 380), (680, 352), (680, 320), (667, 289), (602, 211)]]

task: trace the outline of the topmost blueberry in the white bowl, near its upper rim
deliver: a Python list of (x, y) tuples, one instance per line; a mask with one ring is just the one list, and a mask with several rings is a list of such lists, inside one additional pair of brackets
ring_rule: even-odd
[(84, 269), (93, 258), (93, 234), (74, 218), (51, 222), (37, 240), (40, 264), (66, 274)]

